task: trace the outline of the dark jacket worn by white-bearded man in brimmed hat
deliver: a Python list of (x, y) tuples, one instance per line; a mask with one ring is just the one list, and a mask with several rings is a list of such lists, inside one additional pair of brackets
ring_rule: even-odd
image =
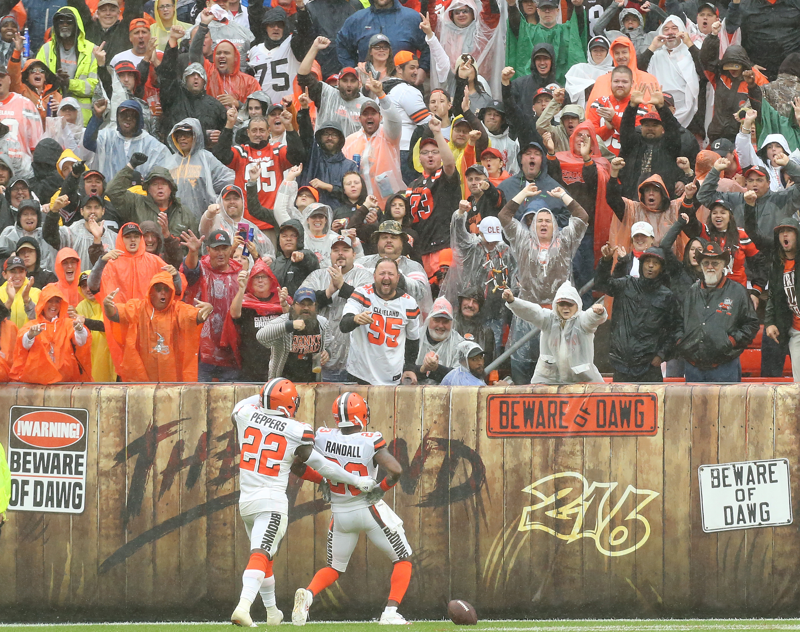
[(731, 362), (758, 334), (758, 316), (741, 283), (722, 277), (716, 287), (698, 281), (683, 301), (678, 355), (700, 370)]

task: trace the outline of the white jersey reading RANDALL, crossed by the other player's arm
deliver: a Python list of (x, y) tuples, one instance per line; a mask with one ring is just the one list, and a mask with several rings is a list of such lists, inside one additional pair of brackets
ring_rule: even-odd
[[(374, 464), (375, 453), (386, 447), (386, 439), (379, 432), (342, 434), (338, 428), (318, 428), (314, 439), (317, 450), (357, 476), (378, 476)], [(353, 511), (370, 506), (365, 494), (352, 485), (330, 483), (330, 510), (335, 513)]]

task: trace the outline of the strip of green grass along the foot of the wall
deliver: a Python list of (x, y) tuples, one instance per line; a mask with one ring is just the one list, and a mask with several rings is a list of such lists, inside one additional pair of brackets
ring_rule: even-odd
[[(290, 623), (284, 622), (282, 629), (290, 630)], [(267, 630), (262, 622), (258, 626)], [(274, 629), (274, 628), (273, 628)], [(378, 630), (391, 630), (391, 627), (378, 627), (375, 622), (336, 622), (313, 623), (306, 625), (306, 632), (377, 632)], [(91, 624), (63, 624), (63, 625), (5, 625), (0, 624), (0, 630), (19, 630), (23, 632), (218, 632), (231, 630), (230, 624), (221, 623), (91, 623)], [(517, 632), (517, 630), (531, 630), (531, 632), (616, 632), (621, 630), (636, 630), (636, 632), (672, 632), (672, 630), (736, 630), (736, 632), (750, 632), (751, 630), (800, 630), (800, 619), (576, 619), (570, 621), (481, 621), (477, 626), (454, 626), (450, 621), (421, 621), (414, 622), (406, 628), (410, 632), (450, 632), (451, 630), (475, 630), (476, 632)]]

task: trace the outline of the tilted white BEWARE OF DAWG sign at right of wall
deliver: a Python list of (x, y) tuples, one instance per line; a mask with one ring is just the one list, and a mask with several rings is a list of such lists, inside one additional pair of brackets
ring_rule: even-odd
[(792, 522), (786, 458), (700, 466), (698, 477), (702, 530), (706, 532)]

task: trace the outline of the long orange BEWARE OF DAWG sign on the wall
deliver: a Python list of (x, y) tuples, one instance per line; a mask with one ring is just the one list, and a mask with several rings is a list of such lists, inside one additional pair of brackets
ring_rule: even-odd
[(655, 393), (498, 394), (486, 399), (489, 437), (648, 436)]

